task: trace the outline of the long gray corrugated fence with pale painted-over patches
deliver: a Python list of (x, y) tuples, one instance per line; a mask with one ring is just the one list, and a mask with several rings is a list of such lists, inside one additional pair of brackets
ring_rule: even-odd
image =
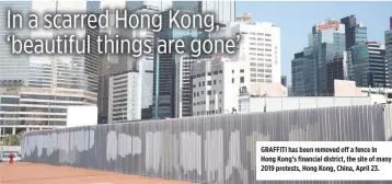
[(257, 140), (384, 141), (390, 117), (389, 105), (373, 105), (41, 130), (23, 135), (22, 157), (194, 183), (262, 183), (255, 181)]

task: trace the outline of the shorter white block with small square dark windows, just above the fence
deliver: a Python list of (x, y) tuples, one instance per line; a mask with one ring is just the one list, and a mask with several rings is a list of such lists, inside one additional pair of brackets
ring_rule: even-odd
[(238, 96), (247, 93), (249, 66), (229, 58), (199, 61), (192, 68), (193, 115), (238, 113)]

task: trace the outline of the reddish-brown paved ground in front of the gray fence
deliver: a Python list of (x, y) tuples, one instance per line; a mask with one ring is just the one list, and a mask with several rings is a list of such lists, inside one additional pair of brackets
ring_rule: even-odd
[(184, 182), (35, 163), (0, 163), (0, 184), (185, 184)]

